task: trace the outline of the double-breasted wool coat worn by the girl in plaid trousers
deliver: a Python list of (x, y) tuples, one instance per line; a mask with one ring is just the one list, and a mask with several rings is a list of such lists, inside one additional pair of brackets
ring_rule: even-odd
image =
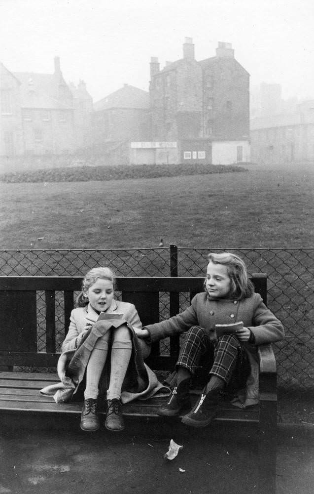
[(215, 324), (229, 324), (243, 321), (244, 327), (250, 329), (255, 344), (243, 343), (247, 351), (251, 374), (246, 382), (245, 402), (255, 404), (258, 400), (258, 366), (256, 346), (262, 343), (273, 343), (284, 337), (284, 329), (279, 319), (263, 303), (258, 293), (243, 300), (210, 299), (206, 292), (198, 293), (193, 298), (190, 307), (177, 316), (160, 323), (145, 326), (150, 335), (150, 341), (180, 334), (192, 326), (201, 326), (208, 331), (209, 337), (214, 337)]

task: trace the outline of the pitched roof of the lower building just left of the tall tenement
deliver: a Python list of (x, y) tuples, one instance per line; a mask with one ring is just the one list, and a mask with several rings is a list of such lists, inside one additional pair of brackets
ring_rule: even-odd
[(149, 93), (138, 87), (124, 84), (123, 87), (108, 94), (105, 98), (94, 103), (94, 110), (108, 110), (109, 108), (149, 108)]

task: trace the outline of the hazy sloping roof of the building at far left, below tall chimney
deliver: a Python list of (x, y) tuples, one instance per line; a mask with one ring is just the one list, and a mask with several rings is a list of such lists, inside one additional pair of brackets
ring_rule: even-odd
[(72, 109), (71, 105), (59, 99), (59, 83), (64, 82), (60, 77), (34, 72), (14, 72), (14, 76), (21, 82), (22, 108)]

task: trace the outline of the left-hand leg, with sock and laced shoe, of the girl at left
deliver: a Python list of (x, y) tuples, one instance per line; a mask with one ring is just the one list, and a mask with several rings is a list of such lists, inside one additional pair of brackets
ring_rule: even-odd
[(110, 332), (108, 331), (96, 341), (86, 367), (86, 388), (81, 415), (82, 430), (96, 431), (99, 429), (97, 414), (98, 384), (108, 355), (109, 338)]

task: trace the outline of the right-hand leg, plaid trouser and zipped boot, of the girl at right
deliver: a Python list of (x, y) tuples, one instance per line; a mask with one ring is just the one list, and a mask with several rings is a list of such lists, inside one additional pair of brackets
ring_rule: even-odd
[(222, 399), (222, 389), (229, 383), (236, 367), (241, 343), (233, 335), (219, 338), (214, 351), (214, 363), (210, 370), (210, 379), (201, 398), (182, 422), (193, 427), (206, 427), (214, 418), (217, 406)]

